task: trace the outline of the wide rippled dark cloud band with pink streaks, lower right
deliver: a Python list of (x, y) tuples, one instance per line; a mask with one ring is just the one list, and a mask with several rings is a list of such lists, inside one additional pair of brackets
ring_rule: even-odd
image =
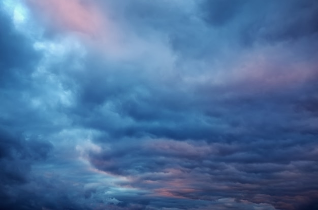
[[(269, 147), (268, 150), (264, 148), (264, 154), (257, 151), (253, 154), (247, 145), (227, 145), (228, 148), (236, 147), (236, 150), (224, 155), (220, 153), (224, 144), (197, 144), (170, 140), (148, 140), (125, 148), (119, 144), (117, 149), (90, 153), (90, 161), (107, 173), (134, 177), (130, 185), (153, 188), (159, 194), (172, 197), (211, 200), (231, 195), (239, 200), (278, 206), (272, 201), (274, 197), (280, 203), (288, 204), (291, 203), (290, 197), (305, 198), (311, 191), (313, 198), (317, 193), (317, 186), (313, 185), (317, 173), (316, 159), (311, 149), (285, 154), (288, 147), (281, 150)], [(262, 146), (262, 143), (250, 145), (253, 149)], [(282, 154), (273, 159), (275, 152)], [(304, 153), (309, 155), (297, 157), (297, 154)], [(295, 183), (296, 178), (298, 183)], [(240, 195), (241, 192), (244, 194)], [(260, 201), (256, 198), (258, 195), (268, 197)]]

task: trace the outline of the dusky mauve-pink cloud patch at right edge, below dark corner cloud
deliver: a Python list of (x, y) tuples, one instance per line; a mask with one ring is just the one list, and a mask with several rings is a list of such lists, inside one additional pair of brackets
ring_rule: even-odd
[(227, 82), (248, 90), (276, 91), (316, 81), (316, 59), (299, 57), (293, 52), (283, 46), (272, 46), (243, 54), (225, 76)]

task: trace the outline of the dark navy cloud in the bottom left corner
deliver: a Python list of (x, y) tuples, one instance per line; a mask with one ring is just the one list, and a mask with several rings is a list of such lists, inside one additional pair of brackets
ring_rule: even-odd
[(3, 128), (0, 130), (0, 196), (3, 198), (0, 207), (3, 209), (29, 209), (23, 207), (26, 200), (19, 189), (30, 180), (31, 165), (34, 162), (44, 161), (51, 151), (52, 145), (33, 138), (10, 134)]

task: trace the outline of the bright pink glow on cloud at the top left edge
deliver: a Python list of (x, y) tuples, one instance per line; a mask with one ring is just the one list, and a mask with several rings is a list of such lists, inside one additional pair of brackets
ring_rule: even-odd
[(105, 18), (94, 1), (26, 0), (49, 27), (60, 31), (76, 31), (92, 36), (102, 33)]

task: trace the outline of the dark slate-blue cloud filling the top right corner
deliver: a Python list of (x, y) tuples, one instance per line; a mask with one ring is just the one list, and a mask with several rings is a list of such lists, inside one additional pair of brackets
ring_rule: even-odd
[(222, 26), (222, 35), (243, 46), (295, 41), (317, 33), (315, 1), (203, 1), (200, 9), (207, 24)]

